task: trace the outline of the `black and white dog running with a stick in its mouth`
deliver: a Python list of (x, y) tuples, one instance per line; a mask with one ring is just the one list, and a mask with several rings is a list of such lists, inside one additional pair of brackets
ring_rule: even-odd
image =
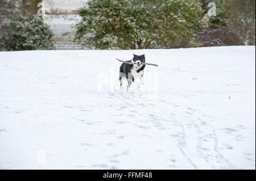
[(131, 86), (131, 83), (135, 82), (135, 85), (139, 89), (138, 82), (135, 81), (135, 79), (139, 78), (141, 79), (141, 83), (144, 84), (143, 80), (143, 74), (144, 74), (144, 68), (146, 65), (142, 65), (142, 63), (145, 62), (145, 55), (137, 56), (136, 54), (133, 54), (133, 59), (127, 62), (135, 62), (134, 64), (125, 64), (123, 63), (120, 66), (119, 71), (119, 81), (120, 81), (120, 87), (122, 89), (123, 80), (126, 79), (128, 82), (127, 91), (129, 90), (129, 87)]

